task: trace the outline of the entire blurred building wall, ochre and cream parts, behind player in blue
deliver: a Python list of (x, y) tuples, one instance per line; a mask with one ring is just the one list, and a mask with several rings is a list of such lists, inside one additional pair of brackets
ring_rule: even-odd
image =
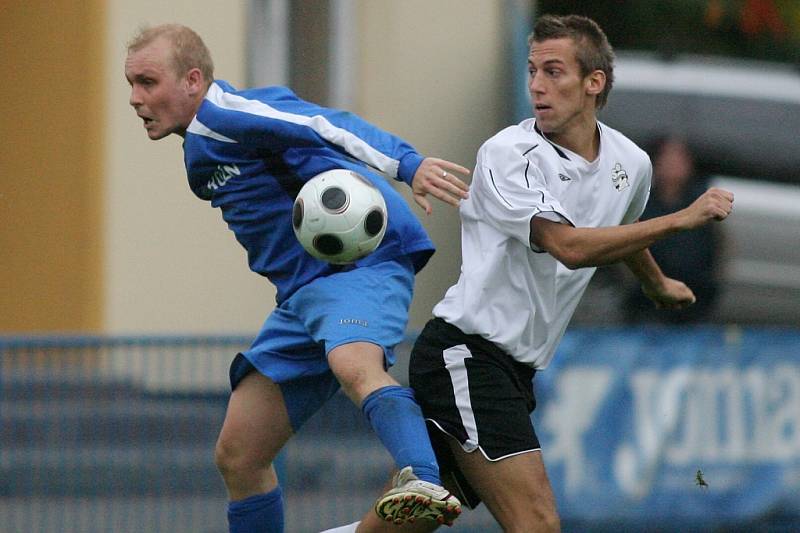
[[(265, 81), (467, 167), (510, 114), (500, 0), (6, 4), (0, 61), (18, 75), (0, 104), (0, 331), (253, 332), (273, 306), (219, 213), (189, 191), (181, 140), (149, 141), (128, 106), (125, 44), (142, 25), (193, 27), (216, 75), (244, 86), (258, 70), (254, 12), (277, 9), (294, 31), (265, 37), (288, 58)], [(344, 36), (321, 30), (334, 10)], [(343, 48), (347, 72), (330, 74)], [(458, 268), (457, 213), (436, 205), (424, 222), (440, 253), (419, 278), (412, 327)]]

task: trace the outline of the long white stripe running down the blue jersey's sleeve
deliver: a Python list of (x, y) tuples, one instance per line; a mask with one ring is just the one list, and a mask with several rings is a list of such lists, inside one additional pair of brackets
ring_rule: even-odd
[(214, 105), (223, 109), (240, 111), (251, 115), (258, 115), (274, 120), (282, 120), (299, 126), (306, 126), (314, 130), (323, 139), (341, 146), (349, 154), (357, 159), (377, 168), (386, 173), (391, 178), (397, 177), (400, 161), (381, 153), (357, 135), (331, 124), (328, 119), (321, 115), (307, 117), (295, 113), (279, 111), (272, 106), (259, 102), (258, 100), (248, 100), (241, 96), (226, 93), (216, 83), (211, 84), (206, 98)]

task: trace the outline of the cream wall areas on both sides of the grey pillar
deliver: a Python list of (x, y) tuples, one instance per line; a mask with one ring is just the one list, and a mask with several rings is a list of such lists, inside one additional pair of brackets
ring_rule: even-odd
[[(477, 148), (504, 125), (500, 117), (510, 105), (503, 92), (509, 81), (504, 1), (346, 4), (357, 20), (351, 25), (356, 79), (339, 83), (353, 87), (346, 95), (352, 110), (426, 155), (471, 168)], [(216, 75), (243, 86), (249, 9), (245, 0), (108, 2), (107, 333), (255, 333), (274, 306), (274, 290), (249, 271), (219, 212), (189, 190), (181, 139), (153, 142), (145, 135), (128, 105), (123, 75), (125, 43), (140, 25), (180, 22), (204, 38)], [(437, 203), (424, 224), (439, 253), (418, 278), (412, 329), (424, 324), (456, 279), (460, 260), (457, 212)]]

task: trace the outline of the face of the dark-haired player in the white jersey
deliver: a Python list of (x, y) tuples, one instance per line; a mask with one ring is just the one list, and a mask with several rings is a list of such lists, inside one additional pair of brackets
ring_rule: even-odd
[(581, 75), (572, 39), (532, 43), (528, 73), (528, 90), (539, 129), (557, 137), (581, 124), (595, 127), (595, 98), (589, 94), (589, 77)]

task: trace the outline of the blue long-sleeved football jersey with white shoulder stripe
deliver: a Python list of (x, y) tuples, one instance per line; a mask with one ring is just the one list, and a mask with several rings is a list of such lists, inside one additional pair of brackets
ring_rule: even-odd
[(356, 266), (408, 256), (419, 271), (433, 254), (409, 205), (375, 172), (410, 184), (422, 156), (352, 113), (306, 102), (285, 87), (237, 91), (217, 80), (187, 129), (183, 149), (192, 191), (220, 208), (247, 250), (250, 269), (276, 286), (278, 303), (342, 268), (309, 255), (292, 229), (297, 193), (326, 170), (358, 172), (386, 200), (383, 241)]

